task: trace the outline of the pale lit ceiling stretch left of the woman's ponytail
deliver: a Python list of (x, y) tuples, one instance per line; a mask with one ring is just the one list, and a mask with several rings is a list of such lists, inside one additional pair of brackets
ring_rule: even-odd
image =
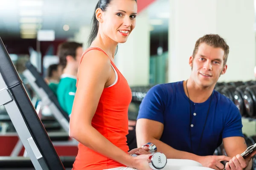
[[(20, 6), (20, 2), (22, 0), (0, 0), (1, 37), (20, 37), (20, 12), (32, 9), (42, 13), (41, 16), (36, 17), (41, 20), (37, 25), (39, 28), (55, 30), (56, 39), (73, 37), (80, 26), (90, 24), (93, 9), (97, 3), (96, 0), (43, 0), (42, 6), (26, 7)], [(65, 24), (70, 26), (69, 31), (64, 31)]]

